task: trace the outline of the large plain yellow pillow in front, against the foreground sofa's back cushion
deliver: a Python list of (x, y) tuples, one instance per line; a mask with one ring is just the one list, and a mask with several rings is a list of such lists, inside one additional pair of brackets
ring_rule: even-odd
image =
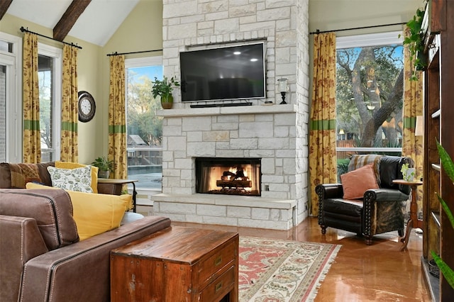
[[(26, 184), (26, 188), (50, 189), (51, 187), (29, 182)], [(76, 191), (67, 192), (72, 201), (73, 218), (77, 225), (79, 240), (85, 240), (94, 235), (118, 228), (126, 207), (133, 198), (131, 194), (118, 196)]]

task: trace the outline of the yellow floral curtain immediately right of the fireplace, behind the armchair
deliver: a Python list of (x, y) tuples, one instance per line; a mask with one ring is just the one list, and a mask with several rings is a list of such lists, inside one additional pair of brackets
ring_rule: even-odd
[(337, 182), (336, 35), (314, 35), (314, 82), (309, 130), (311, 215), (319, 214), (318, 184)]

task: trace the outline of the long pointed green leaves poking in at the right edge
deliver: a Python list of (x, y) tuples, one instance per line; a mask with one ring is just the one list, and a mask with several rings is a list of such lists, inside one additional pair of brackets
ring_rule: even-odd
[[(442, 145), (437, 140), (437, 148), (438, 148), (438, 155), (440, 155), (440, 161), (441, 161), (441, 167), (443, 167), (443, 170), (445, 170), (446, 174), (448, 174), (448, 177), (450, 178), (451, 181), (454, 182), (454, 163), (451, 157), (448, 155), (448, 152), (446, 152), (445, 148), (443, 148)], [(438, 201), (441, 203), (441, 207), (443, 208), (443, 211), (445, 211), (446, 216), (448, 216), (448, 219), (451, 223), (451, 226), (454, 228), (454, 216), (453, 213), (450, 211), (450, 208), (448, 205), (445, 203), (443, 198), (438, 196)], [(453, 269), (451, 269), (448, 264), (446, 264), (441, 257), (436, 255), (435, 252), (431, 251), (431, 255), (433, 259), (435, 260), (438, 268), (440, 269), (441, 273), (445, 277), (446, 281), (448, 281), (448, 284), (454, 289), (454, 272)]]

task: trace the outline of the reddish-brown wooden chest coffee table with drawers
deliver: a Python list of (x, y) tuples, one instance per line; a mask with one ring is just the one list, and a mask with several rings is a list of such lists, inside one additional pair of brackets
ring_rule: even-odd
[(111, 251), (111, 301), (238, 301), (238, 233), (172, 226)]

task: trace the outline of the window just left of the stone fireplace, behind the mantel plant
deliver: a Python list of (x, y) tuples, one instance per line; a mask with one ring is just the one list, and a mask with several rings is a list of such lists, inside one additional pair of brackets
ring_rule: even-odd
[(137, 189), (162, 190), (162, 117), (151, 89), (162, 79), (162, 57), (126, 59), (128, 179)]

